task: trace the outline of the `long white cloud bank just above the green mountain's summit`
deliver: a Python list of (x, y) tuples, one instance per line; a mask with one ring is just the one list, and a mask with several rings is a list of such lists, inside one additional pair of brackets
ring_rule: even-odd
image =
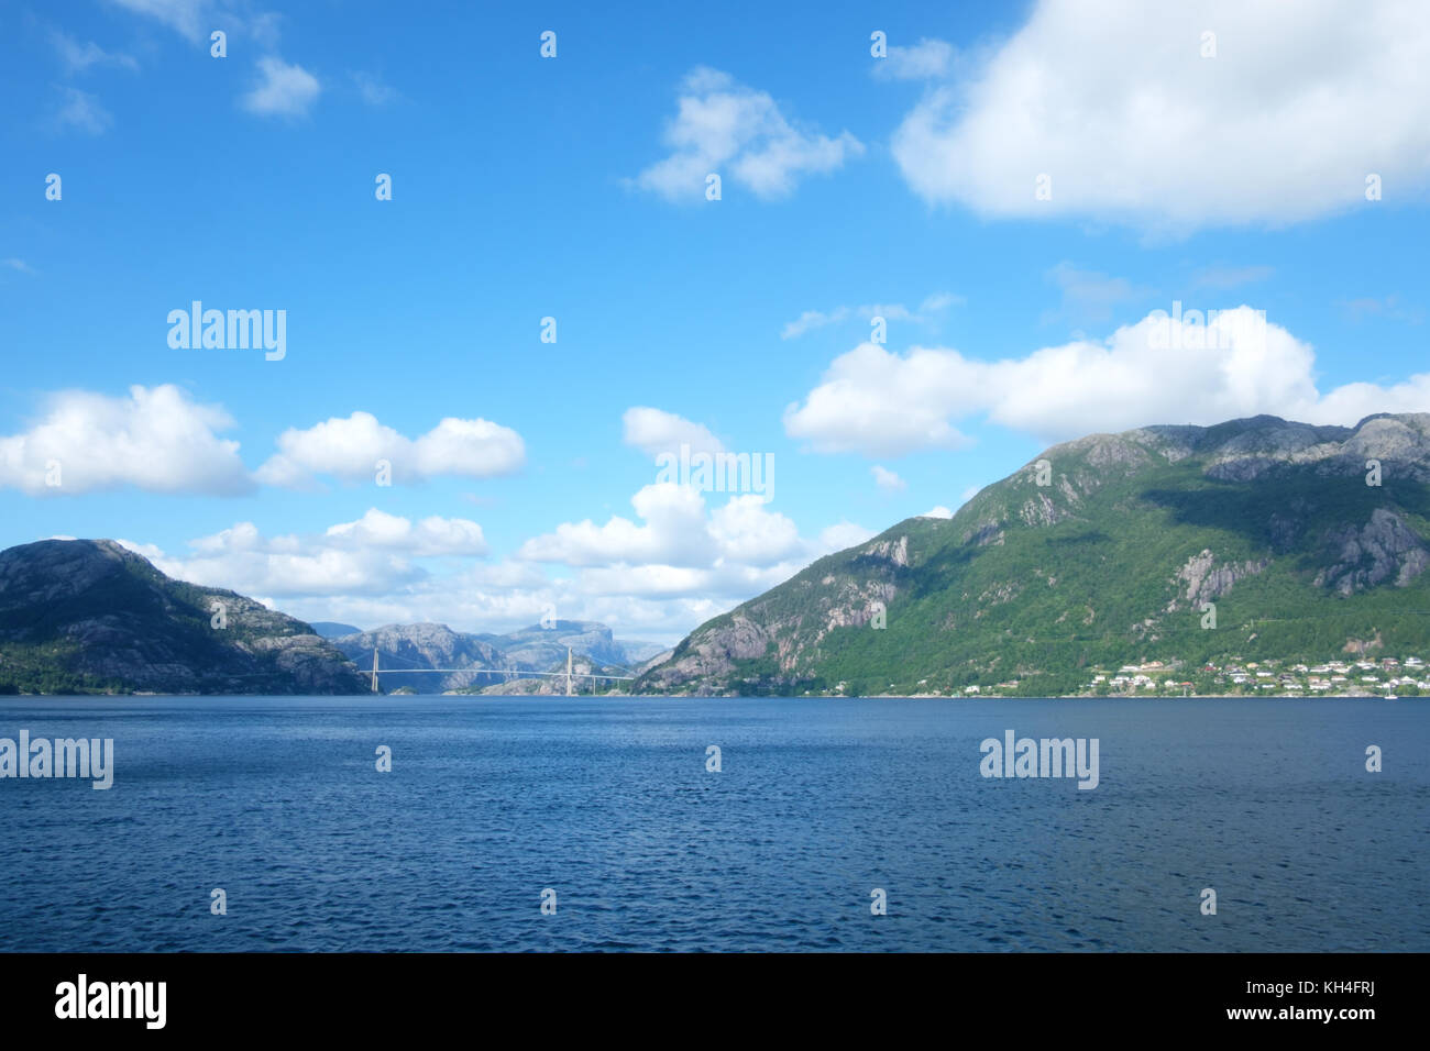
[(894, 353), (864, 343), (837, 357), (785, 430), (818, 452), (889, 456), (960, 448), (958, 423), (988, 419), (1044, 440), (1150, 423), (1218, 423), (1271, 413), (1354, 423), (1374, 412), (1430, 410), (1430, 372), (1321, 393), (1311, 346), (1247, 306), (1210, 323), (1153, 312), (1103, 340), (1000, 362), (958, 350)]

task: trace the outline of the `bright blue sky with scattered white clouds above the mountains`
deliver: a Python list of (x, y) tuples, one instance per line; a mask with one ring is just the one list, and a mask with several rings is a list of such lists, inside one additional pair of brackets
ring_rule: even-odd
[(1423, 13), (1154, 7), (6, 4), (0, 545), (674, 641), (1057, 440), (1430, 410)]

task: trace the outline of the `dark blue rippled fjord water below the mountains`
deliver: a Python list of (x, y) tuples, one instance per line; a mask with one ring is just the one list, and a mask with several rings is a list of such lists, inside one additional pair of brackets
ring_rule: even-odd
[[(10, 951), (1430, 949), (1430, 701), (0, 702), (21, 728), (113, 738), (114, 786), (0, 781)], [(1007, 729), (1098, 738), (1098, 786), (982, 778)]]

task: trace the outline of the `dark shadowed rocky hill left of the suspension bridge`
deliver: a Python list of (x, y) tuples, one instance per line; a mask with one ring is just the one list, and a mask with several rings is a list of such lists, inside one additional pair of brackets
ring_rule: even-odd
[(0, 552), (0, 692), (356, 694), (302, 621), (164, 576), (113, 541)]

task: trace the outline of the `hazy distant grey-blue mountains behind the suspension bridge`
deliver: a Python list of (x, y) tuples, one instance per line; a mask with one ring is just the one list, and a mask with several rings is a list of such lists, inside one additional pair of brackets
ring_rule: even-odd
[[(616, 668), (609, 673), (623, 675), (623, 669), (661, 651), (656, 643), (622, 642), (611, 629), (593, 621), (553, 621), (549, 626), (532, 625), (508, 635), (473, 635), (456, 632), (445, 623), (392, 623), (370, 632), (356, 632), (333, 639), (359, 668), (372, 668), (372, 651), (378, 649), (379, 669), (456, 668), (448, 673), (393, 675), (383, 681), (385, 689), (410, 688), (418, 694), (486, 689), (516, 682), (508, 675), (479, 675), (479, 669), (508, 672), (565, 671), (566, 648), (598, 668)], [(466, 671), (472, 669), (472, 671)], [(533, 692), (523, 688), (522, 692)], [(539, 691), (536, 691), (539, 692)], [(565, 692), (565, 682), (561, 691)]]

